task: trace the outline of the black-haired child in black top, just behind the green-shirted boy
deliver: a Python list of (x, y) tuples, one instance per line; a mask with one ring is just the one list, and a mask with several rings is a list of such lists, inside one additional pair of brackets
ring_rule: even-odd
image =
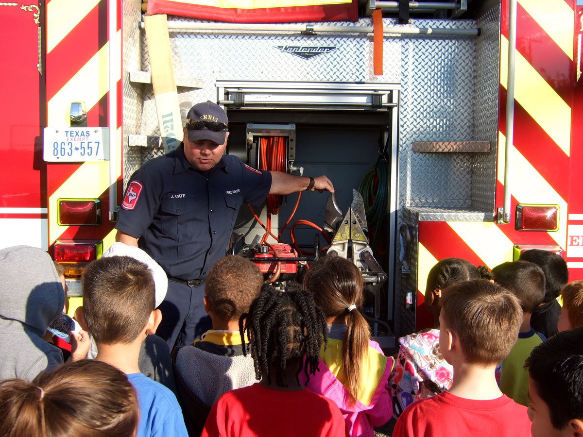
[(561, 312), (557, 297), (569, 281), (567, 263), (557, 253), (541, 249), (524, 251), (519, 260), (535, 263), (545, 273), (545, 298), (532, 312), (531, 326), (548, 339), (557, 333), (557, 322)]

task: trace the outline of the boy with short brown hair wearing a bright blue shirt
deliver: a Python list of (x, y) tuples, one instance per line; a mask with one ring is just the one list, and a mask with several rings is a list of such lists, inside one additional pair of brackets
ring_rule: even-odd
[(83, 316), (97, 343), (96, 360), (126, 373), (138, 394), (138, 437), (186, 436), (174, 394), (140, 372), (142, 341), (155, 334), (161, 313), (154, 309), (152, 271), (129, 256), (100, 258), (82, 276)]

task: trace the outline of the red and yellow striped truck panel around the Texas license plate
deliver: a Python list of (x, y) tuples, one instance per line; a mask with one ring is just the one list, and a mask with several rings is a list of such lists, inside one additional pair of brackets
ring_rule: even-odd
[[(110, 69), (118, 72), (117, 90), (121, 95), (121, 29), (117, 9), (117, 37), (108, 41), (107, 0), (50, 0), (46, 6), (47, 126), (69, 126), (69, 107), (83, 101), (89, 127), (108, 126)], [(115, 4), (115, 3), (114, 3)], [(109, 44), (116, 44), (119, 57), (110, 62)], [(121, 99), (118, 100), (117, 144), (110, 153), (121, 163)], [(111, 126), (110, 126), (111, 127)], [(58, 238), (103, 239), (104, 247), (113, 242), (113, 223), (108, 220), (109, 163), (48, 164), (48, 242)], [(117, 165), (121, 179), (121, 165)], [(120, 185), (120, 184), (118, 184)], [(64, 227), (57, 222), (60, 198), (101, 199), (103, 224), (99, 227)]]

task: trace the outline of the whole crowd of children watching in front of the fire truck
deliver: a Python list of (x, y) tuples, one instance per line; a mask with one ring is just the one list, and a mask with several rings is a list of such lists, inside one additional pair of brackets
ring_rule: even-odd
[(138, 248), (87, 266), (75, 321), (46, 252), (2, 249), (0, 273), (0, 436), (374, 437), (392, 418), (394, 437), (583, 435), (583, 281), (552, 252), (491, 272), (438, 262), (434, 326), (395, 358), (371, 337), (359, 269), (336, 255), (284, 291), (250, 260), (219, 260), (212, 329), (172, 354), (156, 336), (167, 278)]

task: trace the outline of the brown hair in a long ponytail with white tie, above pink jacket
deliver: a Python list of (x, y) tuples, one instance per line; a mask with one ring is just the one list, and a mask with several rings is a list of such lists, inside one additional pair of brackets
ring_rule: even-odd
[[(348, 259), (326, 255), (310, 266), (304, 287), (332, 323), (346, 323), (342, 369), (350, 401), (355, 402), (361, 386), (361, 368), (368, 349), (370, 329), (359, 309), (363, 304), (364, 283), (360, 270)], [(330, 320), (332, 319), (333, 320)]]

